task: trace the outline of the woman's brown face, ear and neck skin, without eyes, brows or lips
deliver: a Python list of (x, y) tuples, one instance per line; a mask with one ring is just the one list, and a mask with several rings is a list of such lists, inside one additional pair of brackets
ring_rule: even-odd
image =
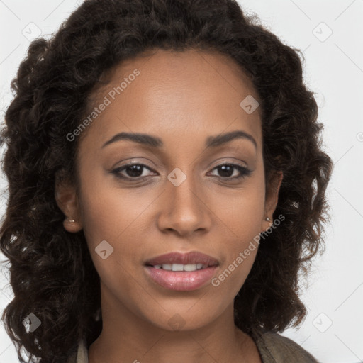
[[(265, 194), (260, 110), (247, 114), (240, 107), (246, 96), (259, 97), (224, 55), (157, 50), (113, 69), (109, 83), (94, 94), (94, 105), (134, 69), (140, 75), (82, 134), (79, 188), (57, 186), (58, 205), (75, 220), (65, 219), (65, 229), (84, 230), (101, 279), (103, 330), (89, 348), (89, 363), (261, 362), (255, 342), (233, 322), (233, 299), (257, 248), (218, 287), (171, 291), (155, 284), (144, 268), (147, 259), (164, 253), (199, 251), (218, 259), (218, 277), (269, 228), (265, 218), (272, 220), (282, 174)], [(234, 130), (252, 135), (257, 147), (237, 138), (206, 148), (209, 136)], [(147, 133), (164, 146), (118, 140), (102, 147), (121, 132)], [(110, 172), (130, 162), (150, 169), (139, 174), (123, 169), (131, 181)], [(218, 166), (225, 164), (251, 173), (228, 181), (240, 172), (223, 174)], [(176, 167), (186, 176), (179, 186), (167, 179)], [(95, 252), (102, 240), (113, 247), (106, 259)], [(179, 330), (171, 318), (181, 322)]]

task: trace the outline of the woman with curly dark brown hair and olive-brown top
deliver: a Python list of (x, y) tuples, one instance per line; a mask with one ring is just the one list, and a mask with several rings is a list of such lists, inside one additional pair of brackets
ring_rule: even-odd
[(19, 359), (316, 362), (277, 334), (306, 316), (332, 170), (296, 50), (233, 0), (86, 0), (13, 89)]

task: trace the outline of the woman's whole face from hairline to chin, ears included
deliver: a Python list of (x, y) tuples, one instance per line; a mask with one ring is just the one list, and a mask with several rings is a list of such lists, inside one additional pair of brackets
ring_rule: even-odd
[(79, 192), (59, 189), (76, 219), (65, 228), (84, 230), (103, 318), (202, 327), (233, 307), (257, 248), (238, 263), (240, 252), (258, 247), (277, 202), (265, 194), (259, 108), (240, 106), (258, 95), (232, 60), (196, 50), (158, 50), (110, 77), (79, 144)]

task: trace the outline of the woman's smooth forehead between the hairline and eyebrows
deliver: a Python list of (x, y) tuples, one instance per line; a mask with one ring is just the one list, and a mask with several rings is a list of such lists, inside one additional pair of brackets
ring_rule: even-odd
[(260, 143), (259, 108), (248, 114), (240, 105), (251, 96), (258, 99), (252, 82), (227, 55), (201, 50), (145, 52), (107, 72), (104, 85), (90, 98), (89, 111), (102, 103), (107, 106), (86, 130), (86, 138), (101, 144), (114, 133), (127, 131), (160, 138), (185, 135), (190, 142), (198, 135), (240, 129)]

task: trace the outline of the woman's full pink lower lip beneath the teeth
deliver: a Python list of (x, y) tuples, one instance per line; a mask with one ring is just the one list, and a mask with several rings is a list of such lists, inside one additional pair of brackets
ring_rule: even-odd
[(196, 271), (169, 271), (146, 266), (146, 270), (153, 281), (169, 290), (191, 291), (206, 286), (215, 274), (217, 266), (197, 269)]

